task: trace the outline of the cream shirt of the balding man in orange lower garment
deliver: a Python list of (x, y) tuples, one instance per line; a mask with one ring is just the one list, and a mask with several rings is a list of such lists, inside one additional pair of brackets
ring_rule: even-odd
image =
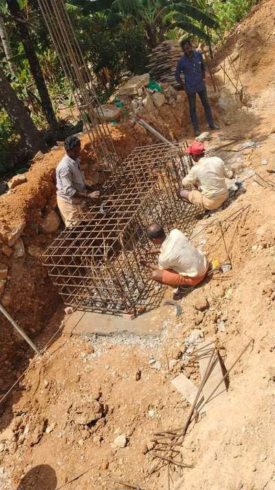
[(173, 269), (181, 276), (202, 276), (207, 260), (179, 229), (172, 229), (166, 236), (159, 254), (159, 267)]

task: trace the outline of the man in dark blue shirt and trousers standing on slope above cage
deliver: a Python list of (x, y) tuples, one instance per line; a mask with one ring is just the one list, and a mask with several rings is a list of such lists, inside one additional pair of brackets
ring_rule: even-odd
[[(185, 90), (188, 96), (190, 119), (194, 127), (195, 136), (199, 135), (199, 122), (196, 112), (196, 96), (199, 95), (203, 105), (204, 112), (210, 130), (218, 130), (219, 126), (214, 123), (211, 108), (208, 102), (206, 92), (206, 64), (203, 56), (199, 51), (192, 50), (192, 44), (189, 39), (181, 41), (181, 48), (184, 55), (177, 62), (176, 80)], [(181, 73), (184, 74), (184, 81), (181, 79)]]

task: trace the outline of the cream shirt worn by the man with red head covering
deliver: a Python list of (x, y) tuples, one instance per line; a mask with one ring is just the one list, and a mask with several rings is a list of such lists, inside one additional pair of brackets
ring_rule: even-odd
[(198, 184), (201, 194), (210, 199), (219, 199), (228, 196), (228, 187), (225, 177), (233, 175), (218, 156), (203, 156), (198, 163), (191, 168), (190, 172), (182, 180), (182, 185)]

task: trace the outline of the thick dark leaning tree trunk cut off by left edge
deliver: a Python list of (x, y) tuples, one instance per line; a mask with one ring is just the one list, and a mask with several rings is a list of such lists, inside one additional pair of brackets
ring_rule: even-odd
[(8, 112), (12, 123), (19, 134), (26, 139), (26, 145), (36, 154), (39, 150), (45, 151), (46, 145), (41, 134), (37, 131), (28, 109), (17, 97), (12, 86), (8, 82), (3, 68), (0, 65), (0, 105)]

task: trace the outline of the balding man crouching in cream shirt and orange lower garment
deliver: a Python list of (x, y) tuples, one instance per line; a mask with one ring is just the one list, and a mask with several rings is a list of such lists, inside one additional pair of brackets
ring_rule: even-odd
[(146, 229), (149, 240), (159, 247), (151, 254), (159, 254), (158, 264), (147, 264), (152, 270), (151, 278), (157, 283), (173, 287), (197, 286), (208, 272), (208, 261), (184, 233), (172, 229), (166, 236), (162, 226), (154, 223)]

